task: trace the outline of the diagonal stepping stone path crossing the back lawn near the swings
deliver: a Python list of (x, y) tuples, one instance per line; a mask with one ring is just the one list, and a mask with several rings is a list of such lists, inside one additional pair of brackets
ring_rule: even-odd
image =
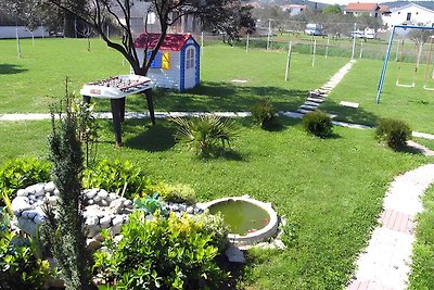
[(321, 88), (309, 91), (304, 104), (298, 106), (297, 113), (307, 114), (317, 110), (317, 108), (324, 101), (324, 98), (337, 86), (344, 76), (352, 70), (355, 60), (350, 60), (345, 64), (330, 80)]

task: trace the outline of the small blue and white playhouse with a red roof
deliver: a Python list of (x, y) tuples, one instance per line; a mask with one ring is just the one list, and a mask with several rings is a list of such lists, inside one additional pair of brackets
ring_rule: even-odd
[[(159, 34), (141, 34), (135, 48), (141, 62), (155, 49)], [(184, 91), (200, 83), (200, 47), (190, 34), (168, 34), (163, 40), (148, 77), (155, 87)]]

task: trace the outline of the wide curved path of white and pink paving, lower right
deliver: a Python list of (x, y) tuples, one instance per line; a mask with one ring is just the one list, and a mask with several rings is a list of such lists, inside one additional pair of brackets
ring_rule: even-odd
[(421, 197), (432, 182), (434, 164), (395, 177), (383, 200), (380, 226), (360, 254), (347, 290), (407, 289), (416, 217), (423, 210)]

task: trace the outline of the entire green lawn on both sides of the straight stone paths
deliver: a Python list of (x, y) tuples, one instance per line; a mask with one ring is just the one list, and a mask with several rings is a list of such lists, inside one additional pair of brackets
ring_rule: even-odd
[[(0, 43), (0, 114), (48, 112), (48, 103), (64, 94), (65, 75), (71, 89), (78, 90), (84, 83), (128, 72), (118, 53), (99, 40), (92, 40), (91, 52), (86, 40), (39, 39), (35, 48), (24, 40), (21, 60), (14, 41)], [(288, 83), (285, 61), (286, 52), (205, 47), (201, 86), (182, 94), (157, 90), (155, 108), (247, 111), (267, 98), (277, 110), (294, 111), (308, 90), (326, 84), (348, 59), (319, 58), (312, 68), (309, 55), (294, 53)], [(425, 104), (432, 94), (426, 91), (395, 88), (387, 79), (382, 103), (374, 104), (380, 70), (379, 61), (358, 61), (321, 108), (337, 113), (340, 119), (372, 125), (393, 116), (434, 133)], [(391, 70), (396, 68), (391, 65)], [(237, 85), (232, 79), (247, 83)], [(339, 105), (341, 100), (361, 106), (345, 109)], [(143, 105), (140, 97), (127, 100), (128, 111)], [(108, 110), (106, 100), (97, 110)], [(290, 222), (296, 220), (298, 228), (295, 244), (284, 251), (250, 251), (240, 288), (341, 289), (376, 224), (393, 177), (433, 159), (393, 152), (376, 143), (371, 130), (339, 127), (332, 138), (318, 139), (306, 135), (299, 121), (281, 121), (280, 130), (266, 131), (252, 126), (250, 118), (239, 119), (234, 152), (210, 160), (195, 159), (186, 146), (176, 143), (166, 121), (158, 119), (155, 127), (149, 119), (126, 121), (122, 149), (113, 147), (111, 121), (100, 121), (99, 157), (130, 160), (154, 180), (189, 184), (200, 200), (250, 194), (271, 202), (280, 214), (291, 213), (295, 219)], [(0, 163), (15, 156), (46, 156), (49, 131), (49, 121), (0, 122)]]

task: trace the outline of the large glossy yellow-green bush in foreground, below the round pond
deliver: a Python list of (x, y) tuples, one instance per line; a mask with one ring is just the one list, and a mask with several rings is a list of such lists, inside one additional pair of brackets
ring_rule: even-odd
[(149, 220), (136, 211), (114, 243), (108, 231), (104, 251), (94, 253), (94, 269), (106, 282), (126, 289), (218, 289), (228, 277), (215, 262), (213, 234), (183, 215), (158, 214)]

